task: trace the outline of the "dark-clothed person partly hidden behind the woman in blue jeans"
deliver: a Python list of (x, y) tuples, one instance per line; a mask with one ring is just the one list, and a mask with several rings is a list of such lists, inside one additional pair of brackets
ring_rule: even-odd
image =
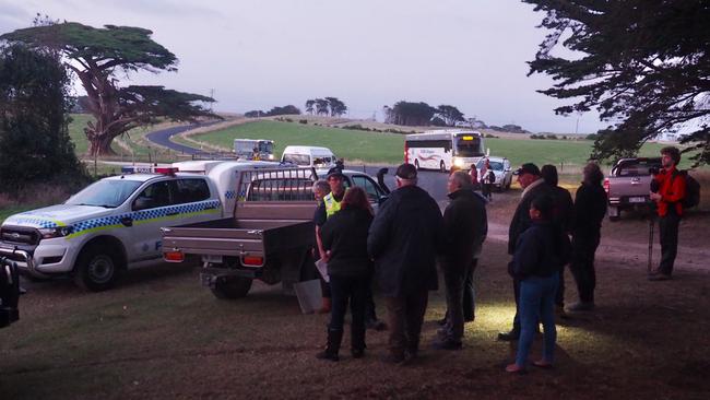
[[(549, 185), (553, 193), (554, 209), (553, 209), (553, 222), (561, 226), (563, 231), (567, 234), (571, 233), (572, 226), (572, 216), (575, 212), (575, 202), (572, 201), (572, 195), (569, 193), (569, 190), (558, 186), (559, 178), (557, 176), (557, 167), (551, 164), (543, 165), (540, 169), (540, 174), (545, 180), (545, 184)], [(559, 270), (559, 284), (557, 285), (557, 294), (555, 295), (555, 305), (557, 316), (560, 318), (567, 318), (565, 314), (565, 268)]]

